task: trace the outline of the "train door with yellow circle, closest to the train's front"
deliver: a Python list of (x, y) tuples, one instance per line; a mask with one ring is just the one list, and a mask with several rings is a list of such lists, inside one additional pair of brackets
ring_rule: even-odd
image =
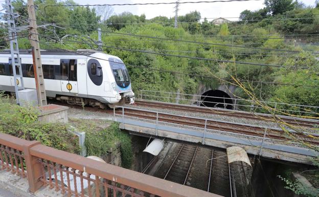
[(76, 59), (60, 60), (60, 76), (62, 92), (78, 93)]

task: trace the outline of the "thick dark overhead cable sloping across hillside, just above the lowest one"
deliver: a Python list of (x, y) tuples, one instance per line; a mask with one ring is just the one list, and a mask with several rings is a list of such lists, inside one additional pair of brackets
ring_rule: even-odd
[[(51, 36), (45, 36), (40, 35), (43, 37), (51, 37)], [(77, 40), (67, 40), (75, 43), (82, 43), (82, 44), (89, 44), (87, 42), (81, 42)], [(231, 60), (221, 60), (221, 59), (212, 59), (212, 58), (202, 58), (202, 57), (192, 57), (192, 56), (185, 56), (185, 55), (174, 55), (174, 54), (166, 54), (166, 53), (157, 53), (153, 51), (145, 51), (145, 50), (136, 50), (136, 49), (125, 49), (121, 47), (113, 47), (113, 46), (106, 46), (106, 45), (97, 45), (96, 43), (91, 43), (90, 45), (94, 46), (101, 46), (105, 48), (110, 49), (117, 49), (117, 50), (123, 50), (123, 51), (131, 51), (131, 52), (139, 52), (139, 53), (148, 53), (148, 54), (154, 54), (154, 55), (163, 55), (163, 56), (170, 56), (170, 57), (179, 57), (179, 58), (189, 58), (189, 59), (197, 59), (197, 60), (207, 60), (207, 61), (216, 61), (216, 62), (222, 62), (222, 63), (237, 63), (237, 64), (247, 64), (247, 65), (261, 65), (265, 67), (277, 67), (277, 68), (286, 68), (284, 65), (271, 65), (271, 64), (263, 64), (263, 63), (253, 63), (253, 62), (241, 62), (241, 61), (231, 61)], [(300, 69), (308, 69), (308, 68), (300, 68)]]

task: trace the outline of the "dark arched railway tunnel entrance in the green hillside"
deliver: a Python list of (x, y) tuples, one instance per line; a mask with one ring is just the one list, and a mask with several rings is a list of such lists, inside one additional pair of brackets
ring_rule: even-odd
[(221, 90), (209, 90), (200, 97), (200, 106), (218, 107), (233, 110), (233, 99), (229, 94)]

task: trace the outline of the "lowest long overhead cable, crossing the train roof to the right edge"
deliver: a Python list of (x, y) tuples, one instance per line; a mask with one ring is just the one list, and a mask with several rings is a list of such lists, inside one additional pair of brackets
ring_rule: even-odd
[[(43, 42), (43, 41), (38, 41), (38, 40), (35, 40), (39, 43), (44, 43), (45, 45), (49, 46), (48, 43), (46, 42)], [(51, 41), (52, 42), (52, 41)], [(50, 46), (51, 47), (51, 46)], [(89, 55), (86, 55), (86, 54), (83, 54), (83, 53), (78, 53), (76, 51), (70, 51), (70, 50), (66, 50), (66, 49), (61, 49), (61, 48), (58, 48), (58, 47), (55, 47), (56, 49), (58, 50), (62, 50), (62, 51), (65, 51), (65, 52), (72, 52), (72, 53), (76, 53), (78, 55), (83, 55), (83, 56), (86, 56), (86, 57), (91, 57)], [(97, 58), (97, 57), (94, 57), (96, 59), (100, 59), (100, 60), (105, 60), (105, 61), (108, 61), (108, 62), (114, 62), (114, 61), (111, 61), (111, 60), (108, 60), (108, 59), (103, 59), (103, 58)], [(116, 62), (118, 63), (118, 62)], [(124, 63), (123, 63), (124, 64)], [(167, 73), (172, 73), (172, 74), (181, 74), (181, 75), (188, 75), (188, 76), (193, 76), (193, 77), (206, 77), (206, 78), (213, 78), (213, 79), (219, 79), (219, 80), (233, 80), (231, 78), (227, 79), (227, 78), (218, 78), (218, 77), (215, 77), (215, 76), (208, 76), (208, 75), (197, 75), (197, 74), (190, 74), (190, 73), (183, 73), (183, 72), (176, 72), (176, 71), (168, 71), (168, 70), (163, 70), (163, 69), (154, 69), (154, 68), (149, 68), (149, 67), (142, 67), (142, 66), (139, 66), (139, 65), (134, 65), (134, 64), (129, 64), (127, 63), (126, 65), (129, 65), (131, 67), (136, 67), (136, 68), (142, 68), (142, 69), (147, 69), (147, 70), (154, 70), (154, 71), (160, 71), (160, 72), (167, 72)], [(319, 86), (312, 86), (312, 85), (297, 85), (297, 84), (291, 84), (291, 83), (278, 83), (278, 82), (268, 82), (268, 81), (254, 81), (254, 80), (241, 80), (239, 79), (239, 81), (243, 81), (243, 82), (254, 82), (254, 83), (264, 83), (264, 84), (273, 84), (273, 85), (289, 85), (289, 86), (297, 86), (297, 87), (319, 87)]]

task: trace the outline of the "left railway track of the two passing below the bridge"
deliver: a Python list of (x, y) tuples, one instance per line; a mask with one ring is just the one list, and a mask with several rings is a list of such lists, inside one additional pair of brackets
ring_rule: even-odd
[(177, 155), (166, 172), (164, 180), (185, 185), (198, 146), (181, 144)]

